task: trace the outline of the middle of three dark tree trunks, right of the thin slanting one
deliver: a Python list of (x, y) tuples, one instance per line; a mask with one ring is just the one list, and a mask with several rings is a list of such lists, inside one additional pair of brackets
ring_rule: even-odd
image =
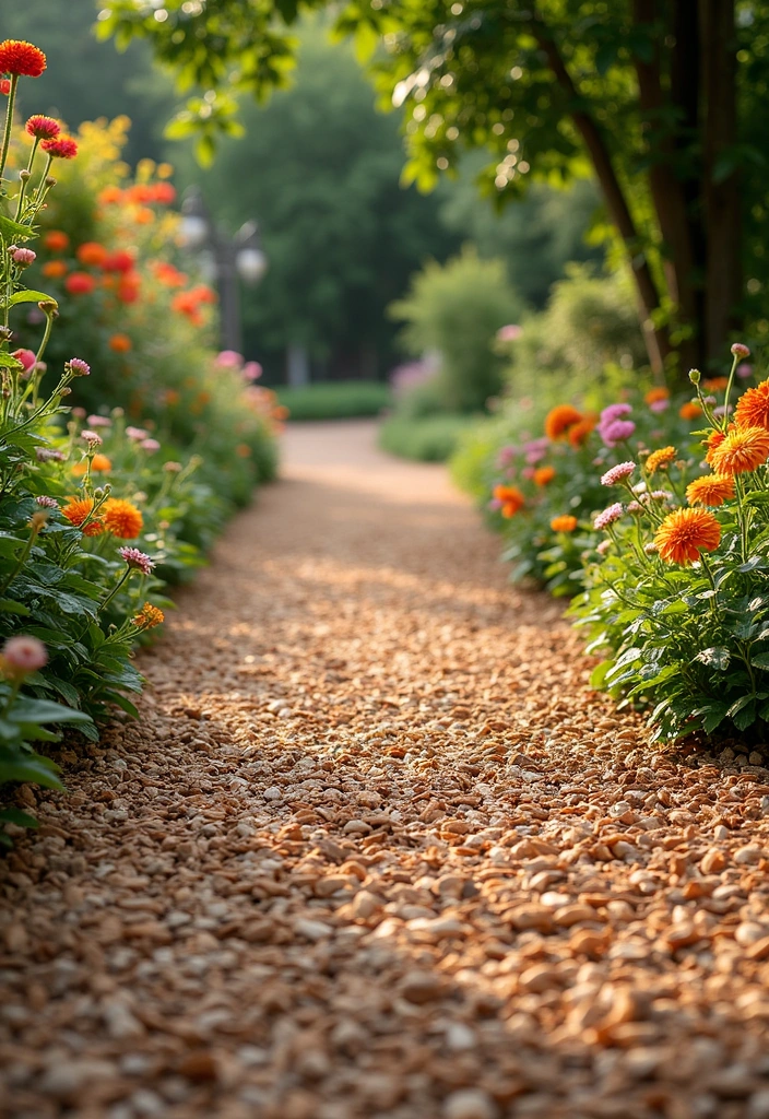
[[(676, 3), (676, 16), (682, 9), (690, 9), (692, 25), (687, 25), (689, 34), (696, 41), (696, 0), (682, 0)], [(689, 219), (689, 205), (684, 186), (682, 163), (677, 159), (675, 137), (681, 128), (680, 119), (671, 120), (671, 94), (663, 88), (663, 66), (659, 46), (663, 39), (663, 27), (667, 30), (670, 20), (665, 18), (659, 25), (659, 0), (634, 0), (633, 19), (636, 26), (649, 29), (649, 41), (653, 54), (648, 59), (635, 58), (638, 78), (638, 101), (640, 105), (647, 152), (651, 156), (649, 189), (652, 201), (663, 238), (663, 267), (667, 293), (677, 309), (677, 318), (690, 333), (676, 347), (681, 373), (686, 373), (700, 364), (702, 340), (702, 308), (696, 298), (696, 267), (693, 245), (693, 229)], [(677, 22), (675, 16), (673, 27)], [(673, 30), (671, 27), (671, 30)], [(680, 49), (676, 40), (673, 54)], [(685, 49), (685, 48), (684, 48)], [(680, 95), (687, 92), (680, 88)], [(696, 86), (694, 88), (694, 107), (696, 111)], [(675, 106), (677, 109), (677, 106)], [(678, 116), (681, 111), (678, 110)], [(678, 133), (680, 134), (680, 133)], [(701, 301), (700, 301), (701, 302)]]

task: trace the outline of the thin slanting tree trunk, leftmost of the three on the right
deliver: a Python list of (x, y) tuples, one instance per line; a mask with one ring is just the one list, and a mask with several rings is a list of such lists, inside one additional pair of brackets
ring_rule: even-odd
[[(539, 18), (534, 22), (534, 34), (540, 47), (547, 55), (550, 68), (554, 73), (559, 85), (567, 94), (569, 101), (575, 106), (578, 105), (580, 98), (571, 75), (566, 68), (558, 47), (548, 36), (547, 29)], [(617, 172), (611, 162), (609, 149), (598, 125), (583, 109), (572, 107), (570, 113), (575, 126), (582, 137), (585, 147), (592, 160), (598, 185), (606, 199), (609, 217), (625, 242), (636, 283), (640, 321), (649, 364), (657, 375), (662, 375), (665, 364), (673, 352), (673, 348), (667, 330), (654, 325), (654, 314), (659, 311), (659, 293), (657, 292), (652, 270), (643, 252), (638, 231), (636, 229), (633, 215), (630, 214), (625, 194), (617, 178)]]

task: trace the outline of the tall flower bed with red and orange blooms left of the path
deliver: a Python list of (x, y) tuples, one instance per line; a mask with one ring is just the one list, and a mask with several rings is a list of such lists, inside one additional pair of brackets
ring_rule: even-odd
[[(142, 264), (141, 245), (120, 245), (118, 229), (133, 238), (121, 217), (108, 247), (58, 228), (38, 257), (31, 246), (49, 211), (61, 226), (65, 218), (87, 226), (87, 206), (78, 210), (72, 195), (72, 214), (53, 201), (51, 169), (78, 157), (58, 122), (30, 117), (22, 172), (13, 185), (1, 178), (17, 84), (44, 68), (32, 45), (0, 44), (8, 97), (0, 147), (0, 783), (60, 788), (56, 764), (35, 744), (56, 741), (60, 726), (95, 740), (115, 707), (136, 714), (131, 696), (142, 678), (132, 651), (163, 621), (164, 583), (202, 562), (229, 502), (245, 500), (269, 473), (274, 402), (250, 385), (256, 370), (239, 356), (215, 360), (196, 337), (203, 322), (191, 321), (192, 309), (174, 322), (174, 295), (148, 285), (139, 298), (146, 278), (162, 272), (163, 237)], [(87, 180), (86, 168), (78, 180), (86, 203)], [(169, 201), (156, 186), (153, 199)], [(51, 269), (57, 261), (65, 266)], [(30, 286), (30, 276), (39, 282)], [(91, 301), (85, 312), (79, 300)], [(84, 349), (76, 348), (80, 332)], [(151, 423), (142, 422), (146, 414)], [(13, 807), (0, 820), (34, 824)]]

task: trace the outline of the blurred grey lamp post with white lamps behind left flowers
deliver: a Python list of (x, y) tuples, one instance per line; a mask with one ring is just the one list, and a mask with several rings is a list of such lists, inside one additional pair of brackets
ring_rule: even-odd
[(184, 192), (181, 204), (181, 243), (202, 256), (203, 270), (213, 280), (219, 293), (221, 348), (243, 349), (243, 323), (238, 280), (255, 285), (267, 271), (267, 257), (262, 248), (259, 227), (246, 222), (234, 237), (215, 225), (198, 187)]

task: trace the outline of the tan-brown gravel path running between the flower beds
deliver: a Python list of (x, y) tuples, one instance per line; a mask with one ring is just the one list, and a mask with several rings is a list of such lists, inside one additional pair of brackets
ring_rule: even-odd
[(294, 427), (0, 866), (12, 1119), (767, 1119), (769, 773), (587, 690), (438, 468)]

